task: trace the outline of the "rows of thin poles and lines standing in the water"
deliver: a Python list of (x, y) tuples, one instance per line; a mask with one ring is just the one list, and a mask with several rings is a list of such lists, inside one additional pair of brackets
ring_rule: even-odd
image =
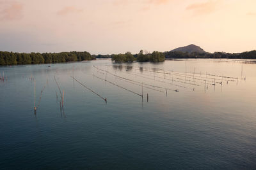
[[(93, 67), (95, 67), (95, 66), (93, 66)], [(106, 71), (106, 70), (104, 70), (104, 69), (100, 69), (99, 67), (95, 67), (95, 68), (97, 69), (97, 73), (101, 73), (100, 71), (103, 71), (103, 72), (104, 72), (104, 73), (101, 73), (101, 74), (105, 74), (105, 79), (100, 78), (99, 76), (95, 76), (94, 74), (93, 74), (93, 77), (96, 77), (96, 78), (98, 78), (99, 80), (102, 80), (102, 81), (106, 81), (106, 82), (108, 82), (108, 83), (110, 83), (110, 84), (112, 84), (112, 85), (115, 85), (116, 87), (119, 87), (119, 88), (121, 88), (121, 89), (124, 89), (124, 90), (127, 90), (127, 91), (129, 91), (129, 92), (132, 92), (133, 94), (136, 94), (136, 95), (138, 95), (138, 96), (140, 96), (140, 97), (142, 97), (142, 98), (143, 98), (143, 87), (145, 87), (145, 88), (147, 88), (147, 89), (155, 90), (155, 91), (158, 91), (158, 92), (163, 92), (163, 90), (157, 90), (157, 89), (153, 89), (153, 88), (165, 89), (166, 96), (167, 96), (167, 90), (173, 90), (173, 91), (175, 91), (175, 92), (179, 92), (179, 90), (177, 90), (177, 89), (166, 89), (166, 88), (159, 87), (159, 86), (156, 86), (156, 85), (149, 85), (149, 84), (147, 84), (147, 83), (146, 83), (146, 84), (145, 84), (145, 83), (143, 84), (143, 82), (131, 80), (131, 79), (129, 79), (129, 78), (124, 78), (124, 77), (122, 77), (122, 76), (118, 76), (118, 75), (113, 74), (113, 73), (110, 73), (109, 71)], [(152, 69), (152, 68), (151, 68), (151, 69)], [(99, 71), (99, 70), (100, 70), (100, 71)], [(135, 69), (135, 70), (138, 70), (138, 69)], [(139, 70), (141, 70), (141, 69), (139, 69)], [(182, 79), (182, 78), (176, 78), (177, 80), (173, 80), (173, 77), (172, 77), (172, 82), (173, 82), (173, 81), (176, 81), (176, 82), (179, 82), (179, 83), (186, 83), (186, 84), (188, 84), (188, 85), (200, 86), (200, 85), (198, 85), (198, 84), (195, 83), (195, 80), (204, 81), (205, 89), (208, 88), (208, 86), (206, 87), (206, 85), (209, 84), (209, 83), (206, 83), (206, 82), (212, 82), (212, 85), (215, 86), (215, 85), (216, 85), (216, 80), (221, 80), (221, 82), (218, 82), (218, 83), (220, 83), (220, 84), (222, 85), (223, 78), (226, 78), (227, 83), (228, 83), (228, 81), (235, 81), (234, 79), (236, 79), (236, 80), (238, 79), (238, 78), (234, 78), (234, 77), (231, 77), (231, 76), (220, 76), (220, 75), (208, 74), (208, 73), (205, 74), (205, 77), (202, 77), (202, 73), (200, 73), (200, 76), (197, 76), (197, 75), (195, 75), (195, 74), (198, 74), (198, 73), (195, 73), (195, 68), (194, 68), (193, 73), (187, 73), (187, 64), (186, 64), (186, 72), (185, 72), (185, 74), (184, 74), (184, 73), (181, 73), (181, 72), (177, 72), (177, 71), (168, 71), (168, 72), (166, 72), (166, 71), (164, 71), (163, 69), (161, 69), (161, 71), (150, 71), (150, 70), (143, 70), (143, 71), (147, 71), (147, 72), (149, 72), (149, 73), (150, 73), (150, 72), (154, 72), (154, 79), (146, 77), (146, 76), (151, 76), (151, 77), (152, 77), (151, 74), (149, 74), (149, 75), (147, 74), (146, 76), (141, 76), (141, 75), (138, 75), (137, 73), (135, 73), (135, 75), (156, 81), (156, 78), (171, 80), (171, 79), (169, 79), (169, 78), (166, 78), (166, 74), (170, 74), (170, 75), (172, 74), (172, 76), (183, 77), (183, 78), (185, 77), (185, 82), (184, 82), (184, 81), (179, 81), (179, 80), (184, 80), (184, 79)], [(172, 73), (171, 73), (171, 72), (172, 72)], [(118, 80), (126, 81), (127, 83), (132, 83), (132, 84), (134, 84), (134, 85), (139, 85), (139, 86), (141, 86), (141, 94), (138, 94), (137, 92), (134, 92), (134, 91), (132, 91), (132, 90), (129, 90), (129, 89), (125, 88), (125, 87), (122, 87), (121, 85), (117, 85), (116, 83), (113, 83), (113, 82), (111, 82), (111, 81), (109, 81), (109, 80), (106, 80), (106, 75), (107, 75), (108, 73), (111, 74), (112, 76), (115, 76), (116, 78), (118, 78)], [(127, 73), (127, 72), (125, 72), (125, 73)], [(161, 77), (161, 76), (156, 76), (155, 73), (164, 74), (164, 78)], [(127, 73), (127, 74), (132, 74), (132, 73)], [(190, 75), (189, 75), (189, 74), (190, 74)], [(192, 76), (191, 74), (193, 74), (193, 76)], [(1, 74), (0, 74), (0, 76), (1, 76)], [(208, 77), (207, 77), (207, 76), (208, 76)], [(221, 79), (220, 79), (220, 78), (211, 78), (211, 77), (209, 77), (209, 76), (220, 77)], [(95, 92), (94, 90), (90, 89), (88, 86), (84, 85), (84, 83), (81, 83), (81, 81), (77, 80), (77, 79), (74, 77), (74, 75), (71, 76), (71, 77), (73, 78), (73, 80), (76, 80), (77, 83), (79, 83), (80, 85), (82, 85), (82, 86), (85, 87), (86, 89), (90, 90), (91, 92), (93, 92), (93, 94), (96, 94), (97, 96), (99, 96), (101, 99), (103, 99), (103, 100), (107, 103), (107, 98), (106, 98), (106, 97), (102, 97), (99, 93), (97, 93), (97, 92)], [(196, 78), (195, 78), (195, 77), (196, 77)], [(199, 78), (199, 77), (200, 77), (200, 78)], [(241, 79), (242, 79), (242, 77), (243, 77), (243, 65), (242, 65), (242, 70), (241, 70)], [(1, 76), (0, 78), (1, 78), (1, 81), (4, 81), (4, 72), (3, 72), (3, 76)], [(193, 78), (194, 83), (188, 83), (188, 82), (186, 82), (186, 81), (187, 81), (186, 78), (188, 78), (188, 79), (192, 79), (192, 78)], [(208, 80), (207, 80), (207, 79), (208, 79)], [(211, 79), (211, 80), (209, 80), (209, 79)], [(244, 78), (244, 80), (245, 80), (245, 79), (246, 79), (246, 78)], [(39, 103), (38, 103), (38, 105), (36, 106), (36, 80), (35, 80), (35, 78), (33, 78), (33, 77), (31, 77), (31, 80), (33, 80), (33, 82), (34, 82), (34, 111), (36, 112), (36, 108), (38, 108), (38, 106), (40, 105), (40, 101), (41, 101), (41, 98), (42, 98), (42, 92), (44, 92), (45, 86), (44, 86), (43, 89), (41, 90)], [(59, 90), (59, 92), (60, 92), (60, 97), (61, 97), (61, 100), (60, 100), (60, 110), (62, 111), (63, 115), (65, 116), (65, 113), (64, 113), (64, 90), (62, 90), (62, 92), (61, 92), (60, 85), (59, 85), (58, 81), (56, 80), (55, 76), (54, 76), (54, 80), (56, 81), (56, 85), (57, 85), (58, 90)], [(214, 80), (214, 81), (212, 81), (212, 80)], [(161, 82), (161, 83), (168, 83), (168, 82), (166, 82), (166, 81), (161, 81), (161, 80), (157, 80), (157, 81), (159, 81), (159, 82)], [(191, 81), (191, 80), (188, 80), (188, 81)], [(168, 83), (168, 84), (174, 85), (174, 86), (177, 86), (177, 87), (186, 88), (186, 87), (184, 87), (184, 86), (182, 86), (182, 85), (177, 85), (177, 84), (174, 84), (174, 83)], [(152, 87), (153, 87), (153, 88), (152, 88)], [(193, 90), (195, 90), (195, 89), (193, 89)], [(57, 91), (56, 91), (56, 101), (57, 101), (57, 103), (58, 103), (58, 93), (57, 93)], [(147, 94), (147, 101), (148, 101), (148, 94)]]

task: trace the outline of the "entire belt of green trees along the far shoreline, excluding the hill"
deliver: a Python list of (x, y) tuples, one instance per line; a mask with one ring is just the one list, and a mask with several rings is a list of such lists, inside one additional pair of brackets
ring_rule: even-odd
[(0, 65), (16, 64), (44, 64), (57, 62), (73, 62), (83, 60), (95, 60), (96, 58), (111, 58), (114, 62), (163, 62), (165, 59), (256, 59), (256, 50), (243, 53), (198, 53), (198, 52), (152, 52), (144, 53), (140, 50), (138, 54), (131, 52), (112, 55), (90, 55), (88, 52), (61, 52), (61, 53), (13, 53), (0, 52)]

